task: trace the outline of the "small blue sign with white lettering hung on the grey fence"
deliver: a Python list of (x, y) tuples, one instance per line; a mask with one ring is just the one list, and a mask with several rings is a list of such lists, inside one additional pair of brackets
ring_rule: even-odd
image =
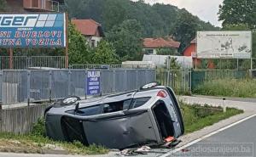
[(101, 93), (101, 71), (89, 70), (87, 72), (86, 95), (98, 95)]

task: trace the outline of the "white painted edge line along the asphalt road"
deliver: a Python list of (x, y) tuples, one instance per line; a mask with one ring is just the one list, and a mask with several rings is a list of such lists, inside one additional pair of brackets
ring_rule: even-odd
[(193, 145), (193, 144), (195, 144), (195, 143), (198, 143), (198, 142), (202, 141), (203, 139), (206, 139), (207, 137), (211, 137), (212, 135), (215, 135), (215, 134), (217, 134), (218, 132), (222, 132), (222, 131), (224, 131), (224, 130), (226, 130), (226, 129), (229, 129), (229, 128), (232, 127), (232, 126), (238, 125), (239, 123), (241, 123), (241, 122), (243, 122), (243, 121), (247, 121), (247, 120), (253, 118), (254, 116), (256, 116), (256, 114), (250, 115), (250, 116), (248, 116), (248, 117), (246, 117), (246, 118), (244, 118), (244, 119), (241, 119), (240, 121), (236, 121), (235, 123), (230, 124), (229, 126), (224, 126), (223, 128), (218, 129), (217, 131), (211, 132), (211, 133), (207, 134), (206, 136), (200, 137), (200, 138), (196, 139), (195, 141), (192, 141), (191, 143), (187, 143), (187, 144), (183, 145), (182, 147), (180, 147), (180, 148), (178, 148), (178, 149), (174, 149), (174, 150), (172, 150), (172, 151), (170, 151), (170, 152), (168, 152), (168, 153), (166, 153), (166, 154), (161, 155), (160, 157), (167, 157), (167, 156), (170, 156), (171, 154), (174, 154), (174, 153), (176, 153), (176, 152), (178, 152), (178, 151), (181, 151), (182, 149), (186, 149), (186, 148), (188, 148), (189, 146), (191, 146), (191, 145)]

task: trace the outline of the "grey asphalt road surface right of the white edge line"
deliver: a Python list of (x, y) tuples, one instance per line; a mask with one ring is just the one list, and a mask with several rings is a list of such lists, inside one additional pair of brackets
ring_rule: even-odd
[(170, 156), (256, 156), (253, 150), (256, 150), (256, 117)]

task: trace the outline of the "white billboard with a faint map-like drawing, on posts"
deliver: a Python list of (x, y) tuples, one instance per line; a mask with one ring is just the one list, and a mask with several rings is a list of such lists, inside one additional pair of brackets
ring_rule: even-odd
[(197, 58), (251, 59), (251, 31), (198, 31)]

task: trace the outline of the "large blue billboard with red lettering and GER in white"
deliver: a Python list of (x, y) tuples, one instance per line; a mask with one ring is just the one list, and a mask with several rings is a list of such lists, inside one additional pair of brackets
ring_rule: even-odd
[(0, 14), (1, 48), (65, 48), (66, 15)]

